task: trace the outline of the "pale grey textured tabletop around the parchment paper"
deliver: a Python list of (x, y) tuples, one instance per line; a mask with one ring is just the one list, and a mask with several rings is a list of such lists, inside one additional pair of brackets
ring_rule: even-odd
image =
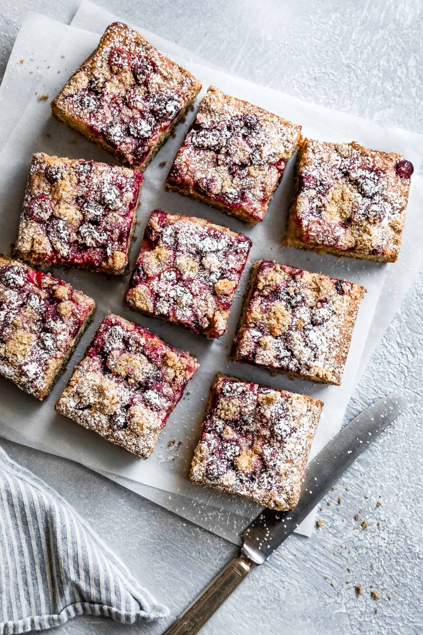
[[(118, 0), (101, 4), (246, 79), (385, 124), (423, 131), (420, 0), (262, 0), (259, 13), (252, 1), (127, 0), (125, 8)], [(16, 27), (29, 8), (68, 22), (77, 2), (32, 0), (16, 10), (13, 4), (2, 3), (3, 67)], [(204, 633), (277, 633), (282, 627), (296, 635), (423, 631), (422, 291), (420, 276), (373, 356), (348, 413), (352, 417), (382, 394), (402, 390), (412, 403), (407, 415), (323, 501), (319, 514), (323, 526), (313, 538), (290, 538), (252, 573)], [(65, 495), (141, 582), (169, 603), (174, 616), (233, 553), (224, 540), (184, 525), (178, 517), (81, 465), (11, 443), (2, 445)], [(344, 501), (341, 505), (338, 497)], [(377, 507), (377, 500), (382, 507)], [(360, 521), (368, 521), (364, 531), (353, 519), (359, 510)], [(355, 584), (363, 584), (358, 598)], [(370, 599), (371, 584), (381, 600)], [(160, 622), (144, 630), (160, 633), (164, 627)], [(123, 629), (112, 622), (79, 618), (56, 632), (106, 634)], [(126, 628), (126, 632), (138, 631), (139, 627)]]

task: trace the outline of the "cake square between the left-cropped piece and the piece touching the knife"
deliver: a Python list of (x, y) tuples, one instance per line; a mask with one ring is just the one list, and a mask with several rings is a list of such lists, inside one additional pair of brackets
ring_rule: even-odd
[(55, 408), (107, 441), (148, 458), (197, 368), (187, 352), (110, 313)]

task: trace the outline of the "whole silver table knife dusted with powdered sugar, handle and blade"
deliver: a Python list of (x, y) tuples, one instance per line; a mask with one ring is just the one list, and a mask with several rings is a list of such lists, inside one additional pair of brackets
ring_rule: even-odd
[(241, 551), (163, 635), (195, 635), (241, 584), (252, 568), (263, 564), (280, 547), (358, 455), (377, 439), (404, 410), (407, 399), (390, 394), (375, 401), (309, 463), (301, 497), (292, 511), (264, 509), (242, 532)]

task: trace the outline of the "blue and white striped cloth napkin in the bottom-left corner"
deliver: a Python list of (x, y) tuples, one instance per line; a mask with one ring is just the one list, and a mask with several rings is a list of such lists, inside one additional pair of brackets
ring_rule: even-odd
[(89, 613), (125, 624), (169, 611), (58, 493), (0, 448), (0, 635)]

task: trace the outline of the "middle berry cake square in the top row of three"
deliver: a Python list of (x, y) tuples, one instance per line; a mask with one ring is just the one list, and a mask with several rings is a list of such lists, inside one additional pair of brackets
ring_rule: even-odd
[(301, 126), (210, 86), (166, 185), (254, 224), (300, 140)]

